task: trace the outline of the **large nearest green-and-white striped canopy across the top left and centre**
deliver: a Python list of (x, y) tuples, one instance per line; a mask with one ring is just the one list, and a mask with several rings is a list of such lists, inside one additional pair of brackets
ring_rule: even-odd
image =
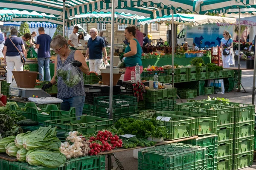
[[(104, 11), (111, 9), (111, 0), (67, 0), (65, 1), (65, 19), (70, 16), (86, 14), (93, 11)], [(138, 14), (142, 6), (159, 8), (159, 16), (168, 14), (170, 10), (192, 11), (194, 0), (115, 0), (115, 8), (124, 10), (130, 8), (129, 13)], [(134, 8), (137, 6), (137, 8)], [(17, 9), (23, 11), (44, 12), (55, 16), (63, 16), (63, 0), (1, 0), (0, 9)], [(145, 7), (144, 7), (145, 8)], [(122, 12), (122, 11), (120, 11)], [(125, 12), (125, 11), (123, 11)], [(145, 13), (146, 14), (146, 13)], [(150, 16), (154, 17), (153, 15)]]

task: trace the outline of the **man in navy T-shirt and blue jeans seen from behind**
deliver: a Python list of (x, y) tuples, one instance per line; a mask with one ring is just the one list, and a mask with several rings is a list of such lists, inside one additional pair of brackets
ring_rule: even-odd
[[(41, 80), (50, 81), (50, 43), (52, 38), (44, 33), (44, 28), (38, 28), (39, 36), (36, 39), (35, 48), (38, 49), (38, 71), (42, 74), (43, 78)], [(44, 69), (45, 69), (45, 79), (44, 79)]]

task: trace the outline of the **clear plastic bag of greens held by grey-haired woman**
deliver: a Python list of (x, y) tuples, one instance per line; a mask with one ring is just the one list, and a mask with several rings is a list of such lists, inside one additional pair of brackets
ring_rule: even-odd
[[(81, 74), (72, 62), (57, 70), (57, 76), (70, 88), (73, 88), (81, 81)], [(58, 78), (59, 79), (59, 78)]]

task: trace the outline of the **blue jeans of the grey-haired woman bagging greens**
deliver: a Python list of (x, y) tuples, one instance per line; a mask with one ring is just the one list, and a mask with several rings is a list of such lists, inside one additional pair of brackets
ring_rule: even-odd
[(61, 111), (69, 111), (73, 107), (76, 108), (76, 116), (82, 116), (85, 96), (75, 96), (62, 100)]

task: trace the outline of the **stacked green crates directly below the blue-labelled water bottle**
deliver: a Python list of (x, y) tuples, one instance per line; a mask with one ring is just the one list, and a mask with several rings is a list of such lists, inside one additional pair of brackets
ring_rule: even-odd
[(145, 109), (172, 111), (176, 102), (176, 88), (148, 89), (145, 94)]

